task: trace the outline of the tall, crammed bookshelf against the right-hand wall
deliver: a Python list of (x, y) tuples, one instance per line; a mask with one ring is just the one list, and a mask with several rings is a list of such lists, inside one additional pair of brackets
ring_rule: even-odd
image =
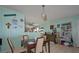
[(61, 36), (65, 42), (73, 43), (71, 22), (61, 24)]

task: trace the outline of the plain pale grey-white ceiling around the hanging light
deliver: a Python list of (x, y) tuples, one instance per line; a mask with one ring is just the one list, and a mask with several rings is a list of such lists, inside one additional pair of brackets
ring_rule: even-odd
[[(4, 7), (24, 13), (31, 19), (41, 19), (41, 5), (4, 5)], [(54, 20), (62, 17), (79, 15), (77, 5), (45, 5), (45, 12), (48, 19)]]

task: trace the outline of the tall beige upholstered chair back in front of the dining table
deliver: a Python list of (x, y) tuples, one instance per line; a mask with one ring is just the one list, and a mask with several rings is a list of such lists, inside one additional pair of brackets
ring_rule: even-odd
[(44, 37), (37, 38), (36, 53), (43, 52)]

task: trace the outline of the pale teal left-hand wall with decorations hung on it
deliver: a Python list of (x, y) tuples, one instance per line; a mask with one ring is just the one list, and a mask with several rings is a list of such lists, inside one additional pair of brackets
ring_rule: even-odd
[[(17, 21), (17, 28), (14, 28), (12, 20), (14, 19), (13, 16), (11, 17), (4, 17), (4, 14), (16, 14)], [(9, 50), (9, 46), (7, 43), (7, 38), (9, 37), (15, 44), (15, 47), (21, 47), (21, 39), (22, 35), (26, 34), (29, 35), (30, 39), (34, 39), (38, 37), (40, 34), (36, 32), (24, 32), (24, 22), (21, 22), (20, 19), (24, 20), (25, 16), (18, 11), (11, 10), (5, 7), (0, 6), (0, 37), (3, 39), (2, 46), (0, 52), (7, 52)], [(27, 21), (27, 19), (26, 19)], [(11, 23), (10, 29), (7, 29), (6, 23)]]

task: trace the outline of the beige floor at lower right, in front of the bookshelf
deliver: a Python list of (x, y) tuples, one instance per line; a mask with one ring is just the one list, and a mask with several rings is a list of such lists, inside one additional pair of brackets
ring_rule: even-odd
[(50, 43), (50, 53), (79, 53), (79, 48)]

